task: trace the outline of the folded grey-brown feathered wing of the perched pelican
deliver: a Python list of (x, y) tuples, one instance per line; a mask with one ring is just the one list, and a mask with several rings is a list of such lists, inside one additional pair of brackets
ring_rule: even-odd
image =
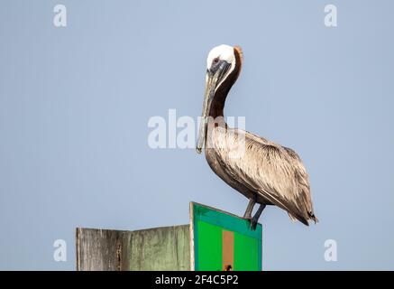
[(310, 196), (305, 193), (309, 191), (299, 189), (297, 167), (287, 150), (242, 130), (224, 131), (216, 127), (214, 136), (215, 154), (224, 171), (307, 225)]

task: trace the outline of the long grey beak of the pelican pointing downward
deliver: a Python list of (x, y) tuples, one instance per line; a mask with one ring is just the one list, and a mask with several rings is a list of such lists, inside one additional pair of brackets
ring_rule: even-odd
[(224, 79), (224, 76), (230, 66), (226, 61), (220, 61), (217, 64), (218, 65), (214, 71), (206, 70), (206, 90), (204, 93), (203, 111), (201, 114), (196, 145), (198, 154), (201, 154), (203, 145), (206, 143), (206, 130), (208, 126), (209, 111), (211, 110), (212, 100), (215, 97), (215, 90), (218, 83)]

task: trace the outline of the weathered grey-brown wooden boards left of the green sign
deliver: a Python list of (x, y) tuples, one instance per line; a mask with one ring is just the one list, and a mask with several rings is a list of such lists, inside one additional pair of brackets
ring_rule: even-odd
[(136, 231), (77, 228), (78, 271), (190, 270), (189, 226)]

